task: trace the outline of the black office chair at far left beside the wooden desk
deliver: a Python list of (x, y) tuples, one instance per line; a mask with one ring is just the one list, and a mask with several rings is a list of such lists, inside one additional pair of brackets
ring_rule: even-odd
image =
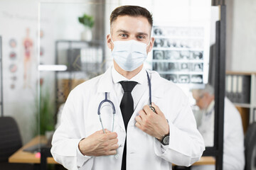
[(32, 170), (31, 164), (13, 164), (8, 159), (22, 147), (21, 135), (14, 118), (0, 117), (0, 169)]

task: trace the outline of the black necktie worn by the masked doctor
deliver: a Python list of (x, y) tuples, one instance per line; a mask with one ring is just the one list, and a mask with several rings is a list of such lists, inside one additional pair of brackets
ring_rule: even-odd
[[(129, 123), (129, 119), (132, 117), (132, 113), (134, 112), (134, 102), (132, 98), (132, 89), (137, 84), (135, 81), (120, 81), (122, 88), (124, 89), (124, 96), (122, 97), (122, 101), (120, 103), (120, 108), (122, 112), (122, 117), (124, 120), (125, 130), (127, 130), (127, 125)], [(122, 170), (126, 170), (126, 154), (127, 154), (127, 145), (126, 139), (124, 143), (124, 153), (122, 157)]]

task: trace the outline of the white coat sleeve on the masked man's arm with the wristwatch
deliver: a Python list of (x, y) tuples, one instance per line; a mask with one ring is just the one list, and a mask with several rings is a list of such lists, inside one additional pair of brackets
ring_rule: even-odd
[[(169, 146), (163, 146), (158, 140), (154, 141), (154, 151), (158, 157), (179, 166), (191, 166), (198, 161), (205, 145), (203, 137), (196, 128), (196, 120), (188, 102), (181, 98), (177, 104), (180, 107), (175, 118), (169, 120)], [(171, 113), (168, 113), (171, 114)], [(165, 115), (168, 115), (165, 113)], [(167, 116), (168, 118), (168, 116)]]

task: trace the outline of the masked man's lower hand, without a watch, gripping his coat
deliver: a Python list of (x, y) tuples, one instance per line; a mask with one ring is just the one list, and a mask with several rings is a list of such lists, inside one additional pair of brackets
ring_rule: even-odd
[(78, 144), (80, 152), (87, 156), (103, 156), (117, 154), (117, 148), (119, 147), (117, 142), (117, 133), (110, 132), (105, 129), (99, 130), (92, 135), (81, 140)]

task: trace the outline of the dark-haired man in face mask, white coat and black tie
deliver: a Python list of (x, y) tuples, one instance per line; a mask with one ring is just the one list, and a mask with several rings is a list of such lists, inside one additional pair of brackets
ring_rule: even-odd
[(65, 168), (162, 170), (200, 159), (205, 147), (188, 98), (143, 67), (152, 24), (140, 6), (112, 11), (107, 46), (114, 66), (70, 92), (53, 135), (51, 153)]

